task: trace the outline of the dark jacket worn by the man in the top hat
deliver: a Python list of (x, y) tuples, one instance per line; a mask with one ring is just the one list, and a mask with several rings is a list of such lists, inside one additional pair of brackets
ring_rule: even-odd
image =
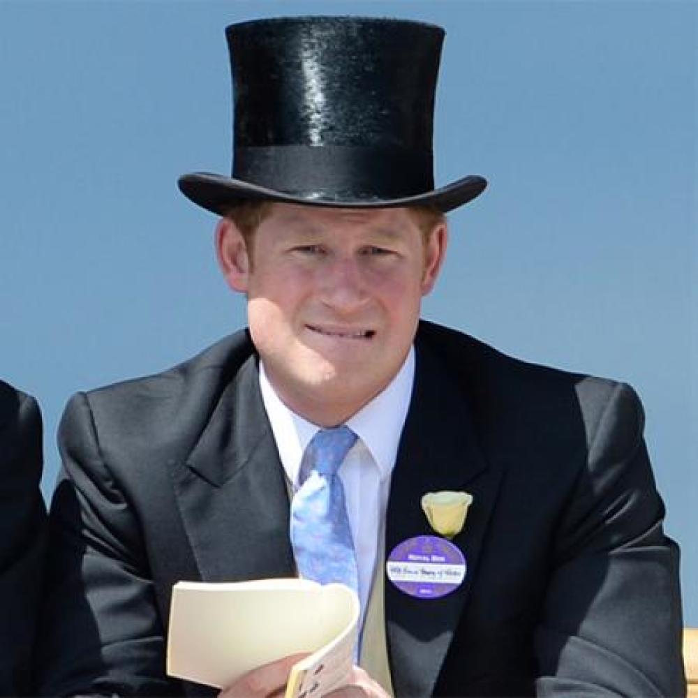
[[(386, 549), (426, 491), (474, 496), (458, 591), (385, 584), (398, 695), (682, 695), (678, 553), (621, 384), (422, 323)], [(288, 494), (245, 332), (70, 401), (38, 692), (211, 694), (164, 674), (172, 584), (293, 574)], [(234, 652), (235, 648), (231, 648)]]

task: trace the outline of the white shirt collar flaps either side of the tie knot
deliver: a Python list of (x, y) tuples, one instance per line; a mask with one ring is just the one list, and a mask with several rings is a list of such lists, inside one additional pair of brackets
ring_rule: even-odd
[[(410, 347), (400, 370), (385, 389), (345, 422), (371, 453), (381, 480), (390, 475), (395, 464), (414, 379), (415, 350)], [(260, 389), (281, 464), (293, 487), (297, 487), (303, 453), (320, 426), (285, 406), (269, 383), (262, 361)]]

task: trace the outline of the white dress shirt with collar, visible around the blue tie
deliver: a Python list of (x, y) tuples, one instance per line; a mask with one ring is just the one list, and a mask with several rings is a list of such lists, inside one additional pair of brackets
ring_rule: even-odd
[[(378, 535), (385, 521), (390, 476), (410, 406), (414, 378), (415, 350), (410, 348), (401, 369), (383, 392), (345, 422), (358, 437), (339, 468), (339, 477), (357, 555), (362, 624), (371, 593)], [(285, 406), (269, 383), (262, 362), (260, 388), (281, 464), (295, 493), (300, 486), (301, 459), (320, 426)]]

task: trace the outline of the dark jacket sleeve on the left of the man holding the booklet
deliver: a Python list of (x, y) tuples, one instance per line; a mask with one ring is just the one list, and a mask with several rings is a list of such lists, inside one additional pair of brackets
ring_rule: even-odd
[(110, 469), (89, 397), (59, 427), (63, 470), (50, 512), (39, 695), (179, 695), (138, 517)]

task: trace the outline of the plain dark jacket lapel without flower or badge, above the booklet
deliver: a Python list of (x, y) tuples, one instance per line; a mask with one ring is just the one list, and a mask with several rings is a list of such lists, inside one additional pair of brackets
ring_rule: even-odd
[(223, 389), (207, 428), (172, 475), (203, 580), (295, 575), (288, 491), (254, 357)]

